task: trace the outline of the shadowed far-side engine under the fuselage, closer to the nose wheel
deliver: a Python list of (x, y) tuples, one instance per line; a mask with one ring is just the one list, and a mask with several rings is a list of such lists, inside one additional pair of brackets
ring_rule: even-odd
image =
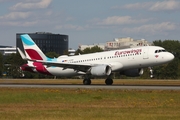
[(125, 70), (125, 71), (120, 72), (120, 74), (126, 75), (128, 77), (138, 77), (143, 74), (143, 69), (139, 68), (139, 69)]

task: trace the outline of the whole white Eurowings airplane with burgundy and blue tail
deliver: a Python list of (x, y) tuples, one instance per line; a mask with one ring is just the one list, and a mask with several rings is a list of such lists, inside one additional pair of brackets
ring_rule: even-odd
[(106, 76), (106, 85), (112, 85), (112, 74), (136, 77), (143, 74), (143, 68), (168, 63), (174, 55), (159, 46), (142, 46), (120, 50), (104, 51), (83, 55), (49, 58), (40, 50), (28, 34), (20, 36), (24, 52), (18, 51), (27, 64), (21, 66), (23, 71), (38, 72), (53, 76), (83, 75), (84, 85), (91, 84), (92, 76)]

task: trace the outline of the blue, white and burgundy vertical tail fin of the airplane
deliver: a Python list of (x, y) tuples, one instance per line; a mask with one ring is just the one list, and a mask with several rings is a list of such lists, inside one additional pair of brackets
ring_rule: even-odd
[(22, 44), (26, 54), (26, 58), (29, 60), (43, 60), (46, 61), (47, 57), (39, 49), (36, 43), (31, 39), (28, 34), (21, 35)]

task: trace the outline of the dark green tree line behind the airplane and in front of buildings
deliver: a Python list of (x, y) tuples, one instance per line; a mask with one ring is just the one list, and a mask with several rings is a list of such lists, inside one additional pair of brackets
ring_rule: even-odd
[[(174, 54), (175, 59), (170, 63), (155, 66), (153, 67), (153, 73), (155, 79), (179, 79), (180, 78), (180, 42), (178, 40), (156, 40), (153, 42), (155, 46), (161, 46), (165, 48), (167, 51)], [(86, 48), (84, 50), (77, 49), (75, 54), (87, 54), (94, 52), (102, 52), (103, 50), (94, 46), (92, 48)], [(64, 52), (68, 54), (68, 52)], [(54, 58), (58, 57), (59, 54), (55, 52), (46, 53), (48, 57)], [(3, 56), (0, 53), (0, 77), (6, 78), (54, 78), (54, 76), (47, 76), (39, 73), (30, 73), (21, 71), (20, 66), (25, 64), (19, 53), (10, 54), (8, 56)], [(113, 75), (114, 78), (125, 79), (126, 76), (120, 76), (119, 73)], [(140, 76), (141, 79), (149, 79), (150, 72), (148, 68), (144, 69), (144, 74)], [(61, 77), (58, 77), (61, 78)]]

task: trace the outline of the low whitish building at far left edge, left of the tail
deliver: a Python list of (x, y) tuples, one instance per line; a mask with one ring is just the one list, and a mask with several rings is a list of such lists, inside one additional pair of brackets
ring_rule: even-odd
[(16, 47), (12, 46), (0, 46), (0, 52), (2, 55), (9, 55), (12, 53), (16, 53)]

